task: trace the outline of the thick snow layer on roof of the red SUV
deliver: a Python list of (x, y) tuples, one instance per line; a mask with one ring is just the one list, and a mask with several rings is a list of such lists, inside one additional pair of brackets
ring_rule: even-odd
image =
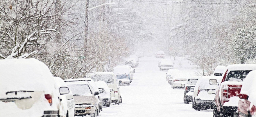
[(229, 71), (256, 70), (256, 64), (235, 64), (227, 66)]

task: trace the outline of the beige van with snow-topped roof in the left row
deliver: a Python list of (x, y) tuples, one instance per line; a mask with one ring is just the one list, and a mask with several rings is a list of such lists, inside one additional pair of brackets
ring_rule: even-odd
[(107, 86), (112, 89), (111, 101), (115, 104), (122, 103), (122, 96), (119, 90), (119, 82), (116, 79), (116, 75), (113, 72), (97, 72), (91, 73), (88, 78), (91, 78), (95, 81), (104, 81), (107, 83)]

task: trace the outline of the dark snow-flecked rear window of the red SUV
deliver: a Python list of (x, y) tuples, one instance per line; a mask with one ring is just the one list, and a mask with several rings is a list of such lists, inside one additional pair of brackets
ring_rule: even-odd
[(250, 71), (251, 70), (246, 70), (246, 71), (230, 71), (229, 74), (227, 74), (226, 81), (242, 82), (243, 78), (245, 78)]

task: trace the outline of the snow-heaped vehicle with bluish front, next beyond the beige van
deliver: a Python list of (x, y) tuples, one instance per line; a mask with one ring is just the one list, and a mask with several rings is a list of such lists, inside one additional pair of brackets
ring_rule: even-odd
[(118, 80), (119, 84), (131, 84), (132, 72), (129, 66), (116, 66), (113, 72), (116, 74), (116, 79)]

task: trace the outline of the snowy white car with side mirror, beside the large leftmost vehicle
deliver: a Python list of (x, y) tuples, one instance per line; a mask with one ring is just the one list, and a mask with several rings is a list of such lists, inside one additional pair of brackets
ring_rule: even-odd
[(66, 117), (75, 117), (75, 100), (73, 93), (69, 90), (68, 85), (59, 77), (54, 77), (57, 89), (61, 95), (61, 107)]

